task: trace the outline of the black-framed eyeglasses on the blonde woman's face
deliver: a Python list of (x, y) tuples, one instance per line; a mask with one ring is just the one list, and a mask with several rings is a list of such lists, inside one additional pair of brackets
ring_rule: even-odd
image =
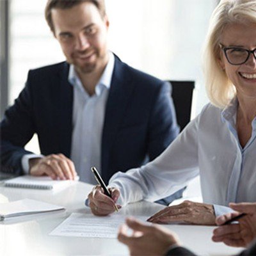
[(231, 65), (242, 65), (246, 63), (251, 53), (256, 59), (256, 48), (250, 51), (242, 47), (225, 47), (223, 44), (220, 44), (220, 47)]

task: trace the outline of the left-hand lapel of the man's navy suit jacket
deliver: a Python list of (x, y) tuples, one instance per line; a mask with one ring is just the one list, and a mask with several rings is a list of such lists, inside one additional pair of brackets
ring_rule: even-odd
[(60, 72), (60, 89), (56, 120), (60, 152), (70, 157), (72, 140), (73, 86), (68, 82), (69, 65), (65, 62)]

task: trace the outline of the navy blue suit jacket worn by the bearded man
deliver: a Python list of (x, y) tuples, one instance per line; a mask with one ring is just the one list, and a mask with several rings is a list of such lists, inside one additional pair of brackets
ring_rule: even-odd
[[(22, 156), (31, 153), (24, 145), (35, 132), (42, 154), (70, 157), (73, 87), (68, 70), (63, 62), (29, 71), (25, 88), (1, 122), (4, 166), (22, 170)], [(178, 133), (170, 84), (115, 56), (102, 131), (103, 179), (159, 156)]]

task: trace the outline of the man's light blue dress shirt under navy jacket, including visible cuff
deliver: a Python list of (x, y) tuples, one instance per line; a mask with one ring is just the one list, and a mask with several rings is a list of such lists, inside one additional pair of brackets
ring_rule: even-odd
[[(108, 64), (95, 87), (95, 94), (92, 96), (88, 95), (84, 89), (74, 65), (70, 65), (68, 73), (68, 81), (74, 87), (70, 159), (76, 166), (79, 179), (91, 184), (97, 184), (90, 171), (91, 166), (96, 166), (100, 172), (102, 129), (114, 65), (114, 54), (109, 52)], [(29, 172), (29, 159), (35, 157), (44, 156), (27, 154), (22, 157), (24, 173)]]

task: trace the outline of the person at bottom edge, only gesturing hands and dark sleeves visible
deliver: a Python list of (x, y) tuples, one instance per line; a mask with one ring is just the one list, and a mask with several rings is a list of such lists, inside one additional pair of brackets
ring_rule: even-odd
[[(236, 224), (216, 228), (212, 240), (230, 246), (248, 247), (239, 255), (256, 255), (256, 203), (230, 204), (230, 207), (236, 212), (219, 216), (217, 225), (223, 225), (241, 212), (246, 216)], [(131, 236), (127, 235), (127, 226), (133, 231)], [(129, 247), (131, 255), (195, 255), (182, 246), (177, 235), (167, 228), (145, 225), (133, 218), (127, 218), (126, 225), (120, 227), (118, 240)]]

